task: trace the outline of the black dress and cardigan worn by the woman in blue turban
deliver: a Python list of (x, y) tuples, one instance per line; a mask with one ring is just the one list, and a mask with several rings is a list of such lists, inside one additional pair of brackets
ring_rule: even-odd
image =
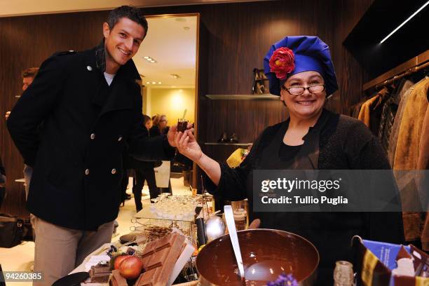
[[(304, 136), (292, 160), (280, 156), (282, 138), (289, 121), (266, 128), (240, 168), (221, 164), (221, 178), (215, 186), (206, 179), (208, 191), (227, 200), (248, 198), (250, 219), (261, 219), (261, 228), (280, 229), (303, 236), (320, 254), (317, 285), (332, 285), (335, 261), (353, 261), (350, 240), (365, 239), (403, 243), (400, 212), (253, 212), (252, 170), (390, 169), (378, 139), (355, 118), (323, 110), (318, 122)], [(283, 147), (284, 149), (284, 147)], [(284, 154), (284, 150), (283, 150)], [(399, 199), (399, 197), (398, 197)]]

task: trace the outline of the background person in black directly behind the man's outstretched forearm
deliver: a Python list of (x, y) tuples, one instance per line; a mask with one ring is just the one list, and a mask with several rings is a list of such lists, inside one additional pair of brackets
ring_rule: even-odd
[[(149, 116), (143, 115), (144, 127), (147, 129), (147, 136), (150, 137), (149, 130), (152, 127), (152, 120)], [(135, 158), (130, 158), (130, 165), (135, 170), (134, 184), (132, 186), (132, 193), (134, 194), (135, 208), (137, 212), (142, 210), (142, 189), (144, 181), (149, 186), (149, 194), (151, 198), (156, 198), (159, 195), (159, 189), (155, 182), (155, 162), (154, 161), (139, 161)]]

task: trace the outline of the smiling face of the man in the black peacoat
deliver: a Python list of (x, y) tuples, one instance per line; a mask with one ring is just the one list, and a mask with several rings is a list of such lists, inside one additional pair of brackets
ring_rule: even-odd
[[(128, 62), (137, 53), (144, 36), (146, 36), (146, 31), (142, 25), (123, 17), (118, 20), (113, 29), (104, 23), (103, 34), (107, 52), (107, 66), (116, 67), (114, 70), (116, 73), (121, 65)], [(107, 73), (110, 72), (107, 70)]]

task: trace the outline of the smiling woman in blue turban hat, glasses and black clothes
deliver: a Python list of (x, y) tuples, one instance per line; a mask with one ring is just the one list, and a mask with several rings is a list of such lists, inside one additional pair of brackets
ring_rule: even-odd
[(249, 199), (250, 217), (265, 229), (297, 233), (320, 253), (317, 285), (332, 285), (335, 261), (352, 261), (350, 240), (402, 243), (400, 212), (253, 212), (252, 170), (388, 170), (378, 140), (355, 118), (324, 109), (338, 90), (329, 47), (317, 36), (287, 36), (264, 57), (270, 93), (280, 95), (290, 118), (270, 126), (254, 142), (239, 168), (219, 164), (201, 151), (192, 130), (176, 136), (180, 153), (207, 176), (210, 193)]

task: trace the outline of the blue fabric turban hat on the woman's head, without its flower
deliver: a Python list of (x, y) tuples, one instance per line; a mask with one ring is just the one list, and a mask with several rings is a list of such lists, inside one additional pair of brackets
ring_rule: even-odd
[(287, 77), (303, 71), (318, 71), (325, 80), (327, 95), (338, 90), (334, 64), (332, 64), (329, 46), (317, 36), (287, 36), (274, 43), (264, 57), (264, 72), (270, 81), (270, 93), (280, 95), (280, 84), (286, 79), (278, 79), (270, 68), (270, 59), (278, 48), (289, 48), (294, 53), (294, 69)]

